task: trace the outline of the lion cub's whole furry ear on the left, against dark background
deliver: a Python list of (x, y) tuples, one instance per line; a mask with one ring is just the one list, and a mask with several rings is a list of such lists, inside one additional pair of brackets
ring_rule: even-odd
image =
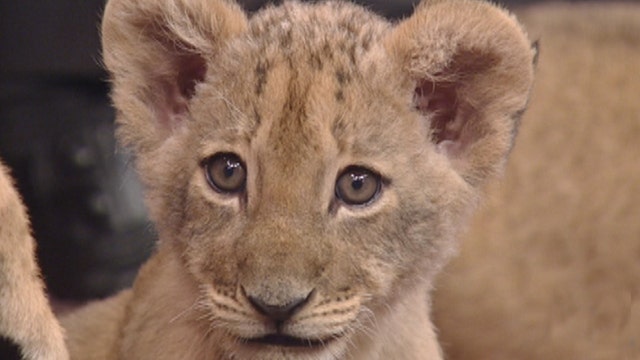
[(246, 27), (226, 0), (110, 0), (102, 48), (125, 144), (145, 152), (180, 127), (207, 67)]

